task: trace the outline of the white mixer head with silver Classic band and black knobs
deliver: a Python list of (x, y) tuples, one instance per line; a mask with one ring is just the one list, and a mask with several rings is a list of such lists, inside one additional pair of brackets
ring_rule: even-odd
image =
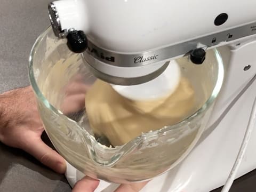
[[(161, 75), (173, 59), (189, 55), (201, 64), (206, 49), (256, 33), (250, 17), (254, 0), (243, 8), (228, 0), (225, 12), (218, 2), (188, 7), (185, 0), (61, 0), (49, 4), (49, 15), (55, 35), (66, 37), (71, 51), (82, 53), (95, 76), (111, 84), (137, 85)], [(134, 8), (142, 5), (146, 9)], [(241, 9), (246, 14), (235, 18)]]

